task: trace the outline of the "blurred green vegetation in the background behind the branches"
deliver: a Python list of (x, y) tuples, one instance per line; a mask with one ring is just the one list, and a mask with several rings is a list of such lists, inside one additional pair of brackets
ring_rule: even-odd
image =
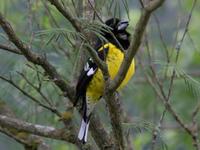
[[(74, 15), (79, 15), (79, 11), (81, 11), (78, 7), (79, 1), (63, 0), (63, 3)], [(128, 19), (130, 21), (129, 31), (132, 32), (140, 15), (139, 1), (96, 0), (95, 3), (95, 9), (103, 20), (113, 16)], [(126, 116), (131, 118), (131, 123), (124, 123), (124, 129), (131, 136), (130, 143), (135, 150), (150, 149), (152, 132), (157, 127), (164, 111), (163, 102), (155, 94), (145, 77), (146, 74), (146, 76), (154, 78), (150, 64), (154, 67), (166, 91), (169, 88), (173, 69), (175, 69), (176, 77), (170, 103), (185, 124), (192, 123), (192, 113), (200, 105), (199, 2), (196, 3), (192, 13), (188, 32), (180, 48), (178, 63), (175, 64), (177, 46), (183, 36), (191, 8), (192, 1), (189, 0), (166, 1), (154, 13), (148, 24), (144, 42), (136, 56), (136, 74), (128, 86), (120, 92)], [(23, 42), (30, 45), (34, 51), (45, 55), (56, 66), (63, 78), (70, 82), (81, 50), (76, 46), (76, 38), (79, 35), (70, 23), (45, 0), (1, 0), (0, 11), (11, 22)], [(87, 24), (84, 14), (79, 19), (82, 19), (83, 24)], [(89, 25), (86, 28), (94, 30)], [(0, 43), (13, 46), (1, 29)], [(169, 54), (170, 63), (167, 63), (166, 53)], [(35, 69), (41, 74), (38, 75), (34, 71)], [(39, 83), (38, 80), (41, 80), (42, 91), (59, 110), (65, 110), (66, 98), (63, 98), (58, 88), (42, 75), (44, 72), (40, 67), (27, 62), (20, 55), (0, 50), (0, 75), (11, 76), (21, 88), (40, 99), (37, 91), (30, 87), (18, 72), (26, 75), (35, 85)], [(13, 110), (17, 117), (25, 121), (54, 125), (55, 127), (62, 126), (55, 115), (32, 102), (10, 84), (0, 80), (0, 105), (3, 102)], [(109, 120), (104, 101), (101, 101), (96, 109), (98, 109), (103, 122), (107, 124)], [(76, 118), (78, 126), (80, 118), (78, 116)], [(199, 114), (195, 116), (195, 120), (200, 123)], [(109, 125), (107, 130), (110, 130)], [(49, 139), (46, 141), (53, 150), (76, 149), (69, 143)], [(22, 150), (23, 147), (0, 133), (0, 149)], [(164, 116), (162, 127), (159, 130), (155, 149), (194, 149), (191, 137), (180, 128), (168, 112)]]

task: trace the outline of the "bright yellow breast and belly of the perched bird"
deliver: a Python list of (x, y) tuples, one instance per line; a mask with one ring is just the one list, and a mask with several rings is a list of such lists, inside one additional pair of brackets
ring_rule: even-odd
[[(106, 56), (106, 64), (108, 65), (108, 72), (110, 74), (110, 78), (114, 79), (124, 59), (124, 53), (111, 43), (105, 44), (103, 47), (99, 49), (99, 51), (103, 50), (103, 48), (108, 48), (108, 54)], [(122, 81), (121, 85), (118, 87), (117, 90), (121, 89), (128, 83), (130, 78), (133, 76), (134, 72), (135, 72), (135, 63), (133, 59), (126, 74), (126, 77), (124, 78), (124, 80)], [(105, 82), (103, 79), (103, 74), (101, 70), (98, 69), (87, 87), (86, 97), (94, 102), (99, 100), (99, 98), (103, 94), (104, 84)]]

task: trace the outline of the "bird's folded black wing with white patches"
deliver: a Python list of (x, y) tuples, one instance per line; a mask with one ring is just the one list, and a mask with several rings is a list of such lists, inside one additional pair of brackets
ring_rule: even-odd
[[(108, 49), (109, 48), (107, 47), (97, 52), (100, 59), (105, 60), (106, 54), (108, 53)], [(98, 66), (96, 65), (96, 63), (92, 60), (92, 58), (89, 58), (81, 71), (78, 83), (76, 85), (76, 100), (74, 105), (76, 105), (80, 98), (83, 98), (83, 100), (85, 99), (88, 84), (92, 80), (92, 77), (96, 73), (97, 69)]]

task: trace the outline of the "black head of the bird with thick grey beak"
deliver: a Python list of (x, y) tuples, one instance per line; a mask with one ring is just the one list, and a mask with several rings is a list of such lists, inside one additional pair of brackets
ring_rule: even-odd
[[(117, 47), (123, 47), (124, 50), (128, 49), (130, 45), (130, 34), (126, 31), (128, 27), (128, 21), (120, 20), (118, 18), (111, 18), (105, 22), (105, 24), (110, 27), (103, 30), (103, 36), (112, 44)], [(112, 32), (112, 34), (110, 33)], [(121, 46), (120, 46), (121, 45)]]

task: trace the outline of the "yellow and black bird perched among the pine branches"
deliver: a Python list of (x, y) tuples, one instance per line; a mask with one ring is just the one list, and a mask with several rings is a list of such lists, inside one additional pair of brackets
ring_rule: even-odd
[[(95, 49), (100, 59), (106, 61), (108, 72), (111, 79), (117, 75), (120, 65), (124, 59), (124, 50), (127, 50), (130, 45), (130, 34), (126, 31), (128, 21), (123, 21), (118, 18), (111, 18), (105, 22), (110, 27), (112, 34), (105, 29), (101, 34), (106, 41), (97, 40)], [(135, 72), (134, 60), (132, 61), (128, 72), (117, 90), (124, 87), (131, 79)], [(78, 138), (83, 143), (87, 142), (88, 128), (90, 116), (95, 104), (103, 95), (105, 81), (102, 71), (98, 68), (92, 58), (89, 58), (85, 64), (76, 86), (76, 105), (79, 99), (83, 102), (83, 117)]]

